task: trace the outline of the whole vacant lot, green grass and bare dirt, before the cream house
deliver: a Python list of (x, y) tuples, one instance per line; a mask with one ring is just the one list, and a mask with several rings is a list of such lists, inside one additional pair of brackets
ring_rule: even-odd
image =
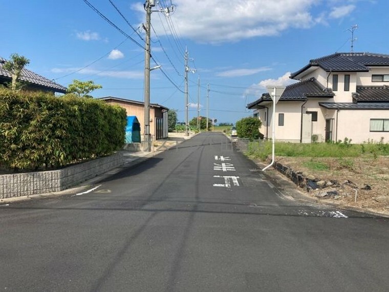
[[(278, 150), (277, 150), (278, 148)], [(317, 184), (307, 196), (389, 215), (389, 145), (276, 143), (276, 161)], [(271, 143), (248, 143), (246, 154), (264, 162)]]

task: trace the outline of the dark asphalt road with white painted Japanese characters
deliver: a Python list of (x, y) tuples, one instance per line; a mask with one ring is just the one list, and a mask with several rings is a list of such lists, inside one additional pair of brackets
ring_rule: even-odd
[(0, 205), (0, 291), (387, 291), (388, 246), (388, 219), (293, 200), (204, 133), (81, 193)]

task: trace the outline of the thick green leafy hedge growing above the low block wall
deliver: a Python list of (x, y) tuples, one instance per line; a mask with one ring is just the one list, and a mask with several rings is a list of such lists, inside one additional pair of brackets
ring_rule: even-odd
[(125, 110), (100, 100), (0, 88), (0, 165), (36, 170), (110, 155), (125, 126)]

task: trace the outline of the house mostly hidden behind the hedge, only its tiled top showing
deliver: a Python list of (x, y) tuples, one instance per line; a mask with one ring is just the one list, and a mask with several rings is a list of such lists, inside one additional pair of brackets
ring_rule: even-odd
[[(8, 82), (12, 81), (12, 75), (10, 72), (3, 68), (7, 60), (0, 57), (0, 84), (5, 85)], [(21, 70), (20, 81), (26, 82), (26, 90), (32, 91), (46, 91), (46, 92), (57, 92), (57, 93), (66, 93), (67, 88), (57, 84), (56, 82), (49, 80), (43, 76), (40, 76), (26, 68)]]

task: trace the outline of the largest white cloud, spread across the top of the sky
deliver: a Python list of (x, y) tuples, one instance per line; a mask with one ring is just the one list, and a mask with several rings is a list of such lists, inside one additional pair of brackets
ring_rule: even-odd
[[(170, 15), (180, 37), (201, 43), (234, 42), (241, 39), (274, 36), (289, 28), (310, 28), (316, 24), (312, 7), (317, 0), (175, 0), (176, 11)], [(133, 5), (143, 21), (142, 5)], [(161, 17), (165, 21), (164, 17)], [(155, 18), (159, 35), (165, 31)], [(166, 23), (164, 23), (166, 27)], [(170, 30), (167, 30), (171, 33)]]

